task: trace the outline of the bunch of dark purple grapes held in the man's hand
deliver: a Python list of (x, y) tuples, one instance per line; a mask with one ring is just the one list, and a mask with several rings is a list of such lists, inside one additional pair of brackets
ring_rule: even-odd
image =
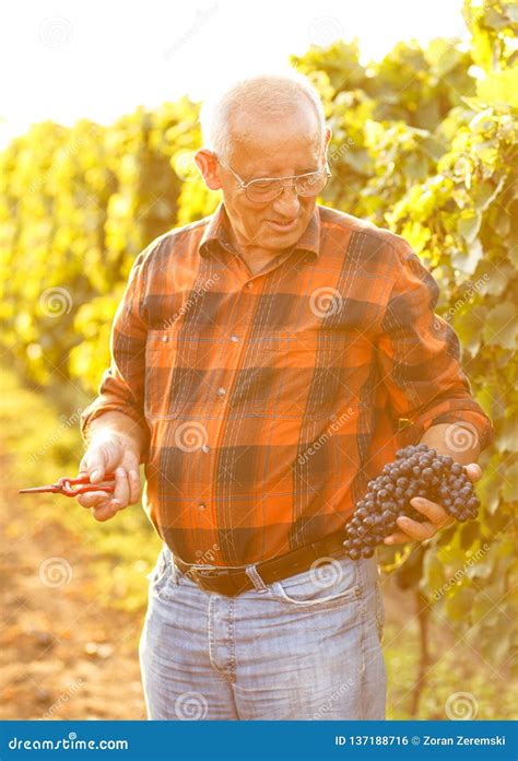
[(400, 515), (420, 523), (427, 519), (410, 504), (414, 496), (436, 502), (461, 523), (478, 515), (480, 502), (460, 463), (426, 444), (405, 446), (396, 457), (368, 482), (367, 493), (346, 524), (343, 546), (352, 560), (372, 558), (375, 547), (399, 529), (396, 518)]

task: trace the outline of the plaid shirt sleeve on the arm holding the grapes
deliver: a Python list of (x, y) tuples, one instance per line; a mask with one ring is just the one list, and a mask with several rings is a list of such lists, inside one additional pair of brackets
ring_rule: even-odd
[[(410, 244), (403, 241), (393, 250), (397, 270), (377, 359), (392, 415), (408, 423), (401, 441), (417, 443), (431, 425), (464, 423), (485, 449), (494, 430), (460, 366), (457, 333), (434, 313), (439, 288)], [(460, 445), (461, 434), (454, 441), (456, 435)]]

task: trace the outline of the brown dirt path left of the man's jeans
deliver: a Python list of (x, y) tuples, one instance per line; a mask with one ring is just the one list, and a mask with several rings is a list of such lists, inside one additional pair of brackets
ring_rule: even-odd
[(74, 537), (56, 523), (27, 530), (19, 504), (4, 487), (0, 718), (145, 718), (137, 652), (143, 617), (101, 608)]

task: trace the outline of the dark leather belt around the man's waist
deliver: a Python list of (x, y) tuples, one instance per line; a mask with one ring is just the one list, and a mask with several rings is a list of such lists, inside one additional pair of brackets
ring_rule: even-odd
[[(344, 555), (344, 541), (345, 531), (342, 529), (279, 558), (255, 563), (255, 566), (264, 584), (280, 582), (282, 578), (307, 571), (316, 560), (323, 562), (326, 558)], [(255, 584), (245, 571), (246, 566), (226, 569), (201, 563), (185, 563), (176, 555), (174, 555), (174, 562), (181, 573), (191, 578), (201, 589), (205, 589), (205, 592), (216, 592), (219, 595), (235, 597), (240, 595), (242, 592), (255, 588)]]

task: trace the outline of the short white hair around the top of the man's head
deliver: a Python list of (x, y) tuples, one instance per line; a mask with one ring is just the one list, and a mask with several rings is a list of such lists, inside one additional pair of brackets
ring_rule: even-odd
[(326, 117), (322, 102), (306, 77), (290, 72), (237, 80), (203, 102), (200, 110), (203, 144), (216, 155), (228, 159), (235, 139), (233, 125), (236, 114), (245, 112), (276, 120), (294, 112), (304, 101), (314, 107), (323, 140)]

